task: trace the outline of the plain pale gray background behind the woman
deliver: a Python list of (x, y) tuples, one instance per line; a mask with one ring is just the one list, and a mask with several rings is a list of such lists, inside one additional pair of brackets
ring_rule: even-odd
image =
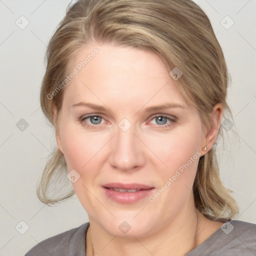
[[(228, 140), (218, 146), (221, 178), (234, 190), (237, 219), (256, 223), (256, 1), (195, 2), (211, 20), (232, 78), (228, 102), (236, 127), (227, 122)], [(43, 57), (68, 3), (0, 0), (0, 255), (23, 255), (42, 239), (88, 221), (75, 196), (49, 207), (35, 193), (55, 143), (39, 107)], [(20, 130), (22, 118), (28, 126)]]

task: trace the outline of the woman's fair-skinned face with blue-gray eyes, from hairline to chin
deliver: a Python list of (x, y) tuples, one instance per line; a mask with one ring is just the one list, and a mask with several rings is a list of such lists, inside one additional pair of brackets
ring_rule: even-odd
[(152, 53), (112, 44), (84, 46), (70, 66), (56, 139), (90, 221), (143, 236), (185, 216), (206, 141), (170, 70)]

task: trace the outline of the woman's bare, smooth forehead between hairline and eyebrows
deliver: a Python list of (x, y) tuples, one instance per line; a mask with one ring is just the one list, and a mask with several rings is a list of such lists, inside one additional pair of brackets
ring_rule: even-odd
[(113, 44), (83, 46), (69, 63), (75, 72), (65, 88), (64, 100), (70, 104), (92, 97), (95, 100), (139, 106), (150, 101), (186, 104), (164, 62), (154, 53)]

